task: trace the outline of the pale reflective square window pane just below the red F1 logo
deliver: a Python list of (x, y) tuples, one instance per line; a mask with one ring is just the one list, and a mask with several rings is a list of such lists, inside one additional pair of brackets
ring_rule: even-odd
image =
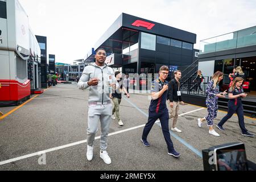
[(155, 51), (156, 36), (151, 34), (141, 33), (141, 48)]

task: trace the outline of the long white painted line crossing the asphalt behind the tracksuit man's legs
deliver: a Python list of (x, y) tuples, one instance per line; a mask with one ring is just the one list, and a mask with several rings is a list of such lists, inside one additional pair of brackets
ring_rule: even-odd
[[(71, 96), (69, 96), (71, 97)], [(205, 108), (200, 108), (200, 109), (197, 109), (197, 110), (193, 110), (193, 111), (189, 111), (188, 113), (183, 113), (183, 114), (180, 114), (179, 116), (181, 115), (186, 115), (186, 114), (190, 114), (190, 113), (193, 113), (193, 112), (196, 112), (196, 111), (199, 111), (199, 110), (203, 110)], [(159, 120), (156, 121), (156, 123), (160, 122)], [(146, 124), (145, 124), (146, 125)], [(111, 133), (109, 134), (109, 136), (112, 136), (112, 135), (117, 135), (117, 134), (120, 134), (120, 133), (125, 133), (127, 131), (131, 131), (131, 130), (135, 130), (135, 129), (139, 129), (141, 127), (144, 127), (145, 125), (140, 125), (140, 126), (135, 126), (135, 127), (131, 127), (129, 129), (125, 129), (125, 130), (120, 130), (120, 131), (117, 131), (117, 132), (114, 132), (114, 133)], [(101, 137), (96, 137), (95, 139), (100, 139)], [(35, 153), (32, 153), (32, 154), (28, 154), (28, 155), (23, 155), (23, 156), (20, 156), (18, 158), (13, 158), (13, 159), (9, 159), (9, 160), (3, 160), (2, 162), (0, 162), (0, 166), (4, 165), (4, 164), (8, 164), (8, 163), (12, 163), (12, 162), (15, 162), (17, 160), (22, 160), (22, 159), (26, 159), (26, 158), (31, 158), (32, 156), (37, 156), (37, 155), (42, 155), (42, 154), (46, 154), (48, 152), (52, 152), (52, 151), (56, 151), (56, 150), (61, 150), (63, 148), (68, 148), (68, 147), (72, 147), (72, 146), (76, 146), (76, 145), (79, 145), (79, 144), (83, 144), (83, 143), (86, 143), (87, 140), (82, 140), (80, 142), (75, 142), (75, 143), (70, 143), (70, 144), (65, 144), (64, 146), (59, 146), (59, 147), (54, 147), (54, 148), (49, 148), (48, 150), (43, 150), (43, 151), (39, 151), (39, 152), (35, 152)]]

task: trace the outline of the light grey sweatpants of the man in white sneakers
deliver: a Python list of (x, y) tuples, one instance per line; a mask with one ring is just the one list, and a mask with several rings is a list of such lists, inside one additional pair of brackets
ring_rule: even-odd
[(92, 147), (94, 144), (95, 135), (98, 131), (98, 121), (101, 122), (101, 150), (106, 150), (108, 147), (109, 126), (112, 115), (112, 104), (108, 105), (90, 105), (88, 107), (88, 129), (87, 143)]

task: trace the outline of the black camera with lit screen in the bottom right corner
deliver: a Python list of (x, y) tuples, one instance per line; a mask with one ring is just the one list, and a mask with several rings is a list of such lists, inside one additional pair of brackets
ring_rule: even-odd
[(227, 143), (202, 151), (204, 171), (256, 171), (246, 158), (245, 144)]

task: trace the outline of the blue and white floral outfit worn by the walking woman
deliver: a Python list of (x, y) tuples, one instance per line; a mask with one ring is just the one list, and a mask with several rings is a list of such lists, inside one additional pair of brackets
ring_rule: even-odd
[(218, 84), (216, 88), (213, 87), (214, 82), (213, 80), (210, 81), (207, 85), (207, 100), (206, 100), (206, 105), (207, 105), (207, 110), (208, 110), (208, 115), (205, 117), (208, 122), (208, 126), (213, 126), (213, 119), (217, 117), (217, 112), (218, 112), (218, 97), (216, 96), (220, 90)]

